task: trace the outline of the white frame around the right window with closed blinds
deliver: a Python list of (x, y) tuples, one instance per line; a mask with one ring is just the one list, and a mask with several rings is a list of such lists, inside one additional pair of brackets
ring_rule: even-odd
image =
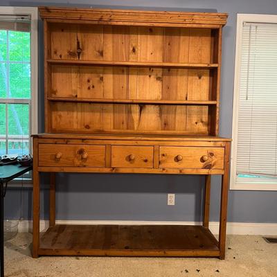
[(238, 14), (237, 17), (237, 37), (235, 44), (235, 79), (233, 94), (233, 128), (232, 128), (232, 150), (231, 150), (231, 190), (277, 190), (275, 184), (236, 184), (236, 161), (238, 149), (238, 107), (240, 93), (240, 67), (242, 53), (242, 26), (244, 22), (271, 23), (277, 24), (277, 15), (254, 15), (254, 14)]

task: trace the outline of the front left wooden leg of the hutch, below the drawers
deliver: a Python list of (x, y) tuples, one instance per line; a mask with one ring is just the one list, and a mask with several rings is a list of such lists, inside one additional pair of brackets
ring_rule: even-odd
[(33, 258), (39, 249), (39, 172), (33, 170)]

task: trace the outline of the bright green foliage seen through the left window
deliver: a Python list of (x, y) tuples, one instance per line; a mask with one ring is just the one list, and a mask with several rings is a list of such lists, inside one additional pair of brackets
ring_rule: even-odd
[[(0, 30), (0, 98), (30, 99), (30, 33)], [(29, 105), (8, 104), (8, 136), (28, 136)], [(0, 104), (0, 152), (6, 149), (6, 104)], [(28, 148), (8, 141), (8, 148)], [(28, 152), (28, 151), (27, 151)]]

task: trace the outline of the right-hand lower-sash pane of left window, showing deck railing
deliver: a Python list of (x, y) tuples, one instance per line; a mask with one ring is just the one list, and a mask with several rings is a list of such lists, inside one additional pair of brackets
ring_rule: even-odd
[(29, 105), (8, 105), (8, 153), (29, 153)]

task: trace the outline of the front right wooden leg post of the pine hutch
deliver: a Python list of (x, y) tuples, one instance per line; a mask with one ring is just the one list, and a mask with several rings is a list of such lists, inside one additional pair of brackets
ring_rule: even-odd
[(224, 160), (224, 175), (222, 175), (221, 184), (221, 202), (220, 202), (220, 259), (225, 258), (225, 244), (226, 244), (226, 224), (227, 224), (227, 204), (228, 204), (228, 187), (229, 187), (229, 153), (230, 143), (226, 143), (225, 160)]

